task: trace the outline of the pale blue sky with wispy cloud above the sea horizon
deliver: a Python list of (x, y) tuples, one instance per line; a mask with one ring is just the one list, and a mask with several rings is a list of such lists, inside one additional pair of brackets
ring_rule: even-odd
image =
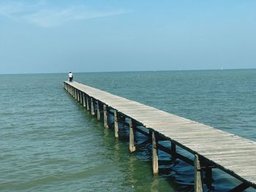
[(256, 68), (255, 0), (0, 0), (0, 74)]

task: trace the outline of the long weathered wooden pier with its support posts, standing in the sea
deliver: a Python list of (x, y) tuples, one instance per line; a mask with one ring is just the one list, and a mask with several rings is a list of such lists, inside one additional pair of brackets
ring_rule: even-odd
[[(102, 120), (105, 128), (110, 127), (112, 115), (116, 138), (118, 125), (126, 124), (131, 153), (151, 144), (154, 174), (159, 173), (158, 150), (162, 150), (195, 167), (195, 191), (203, 191), (202, 185), (212, 182), (212, 169), (216, 168), (241, 181), (230, 191), (244, 191), (249, 187), (256, 189), (256, 142), (78, 82), (65, 81), (64, 88), (91, 115)], [(136, 142), (135, 131), (148, 139)], [(165, 147), (159, 141), (170, 141), (171, 145)], [(192, 153), (194, 161), (179, 154), (176, 146)], [(206, 175), (205, 183), (202, 183), (203, 175)]]

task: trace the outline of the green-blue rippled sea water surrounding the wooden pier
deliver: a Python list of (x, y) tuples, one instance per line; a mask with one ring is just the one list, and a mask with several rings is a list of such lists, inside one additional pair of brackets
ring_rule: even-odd
[[(192, 166), (174, 160), (153, 176), (150, 146), (129, 154), (128, 137), (114, 139), (64, 91), (64, 80), (0, 75), (0, 191), (193, 191)], [(74, 80), (256, 141), (255, 69), (75, 73)], [(214, 169), (211, 191), (238, 184)]]

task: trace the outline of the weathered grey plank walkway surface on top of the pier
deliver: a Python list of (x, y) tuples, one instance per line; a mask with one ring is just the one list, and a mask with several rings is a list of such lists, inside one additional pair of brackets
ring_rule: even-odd
[[(91, 106), (100, 102), (119, 115), (148, 128), (151, 131), (148, 134), (154, 132), (154, 135), (199, 157), (200, 162), (206, 161), (206, 167), (219, 168), (241, 180), (241, 185), (233, 190), (256, 188), (256, 142), (78, 82), (66, 81), (64, 88), (84, 106), (87, 104), (89, 107), (91, 101)], [(97, 106), (99, 108), (99, 104)]]

